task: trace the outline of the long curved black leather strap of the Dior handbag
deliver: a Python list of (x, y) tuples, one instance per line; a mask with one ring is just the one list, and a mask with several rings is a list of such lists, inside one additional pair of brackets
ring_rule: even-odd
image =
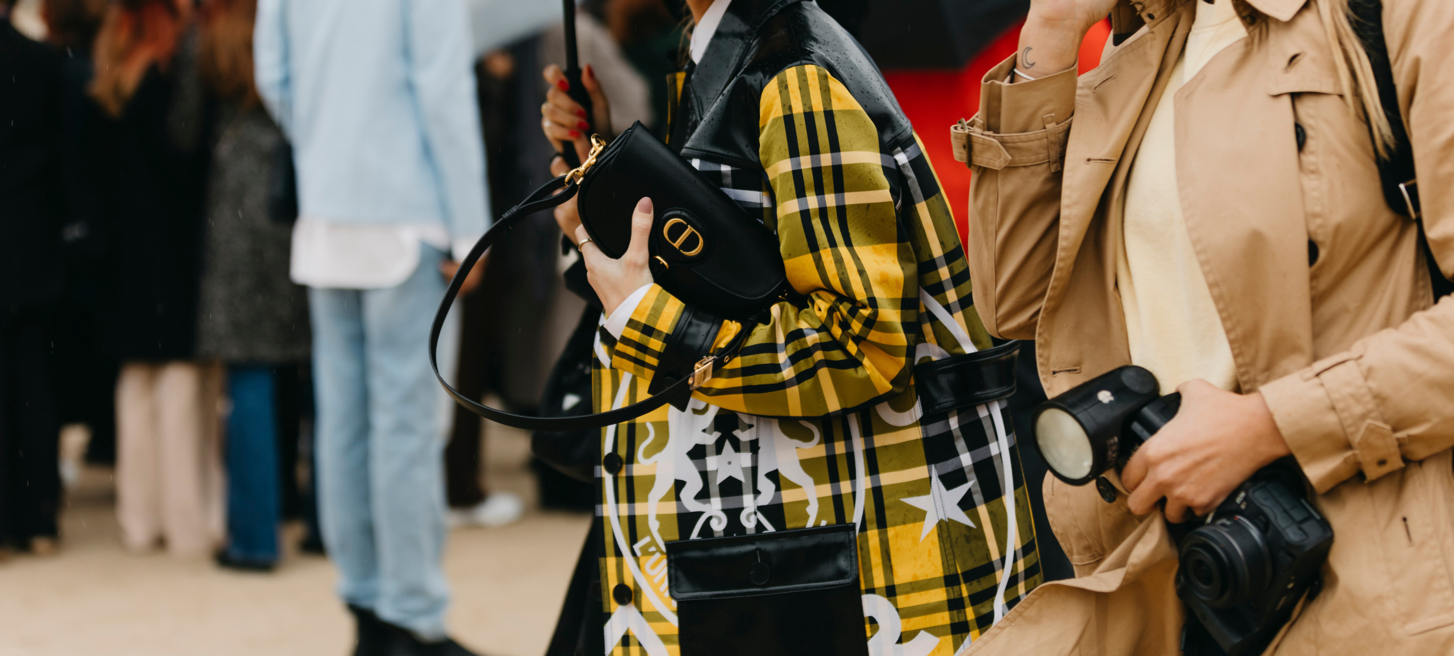
[[(555, 191), (561, 192), (555, 193)], [(515, 224), (518, 224), (522, 218), (529, 217), (531, 214), (535, 214), (541, 209), (554, 208), (566, 201), (570, 201), (571, 196), (574, 195), (576, 195), (576, 185), (567, 185), (566, 177), (561, 176), (547, 182), (545, 185), (541, 185), (539, 189), (535, 189), (529, 196), (521, 201), (519, 205), (515, 205), (507, 212), (505, 212), (505, 215), (502, 215), (500, 220), (490, 227), (490, 230), (487, 230), (483, 236), (480, 236), (480, 240), (474, 243), (474, 247), (470, 249), (470, 255), (465, 256), (464, 262), (459, 263), (459, 271), (457, 271), (454, 279), (449, 281), (449, 288), (445, 289), (445, 297), (443, 300), (439, 301), (439, 310), (435, 311), (435, 323), (433, 326), (429, 327), (429, 367), (433, 368), (435, 378), (439, 380), (439, 384), (443, 385), (445, 391), (455, 400), (455, 403), (459, 403), (461, 406), (464, 406), (465, 410), (470, 410), (491, 422), (503, 423), (506, 426), (523, 428), (526, 431), (587, 431), (593, 428), (609, 426), (612, 423), (630, 422), (635, 417), (640, 417), (641, 415), (646, 415), (651, 410), (656, 410), (657, 407), (662, 407), (669, 400), (689, 396), (694, 388), (692, 377), (685, 375), (670, 387), (666, 387), (664, 390), (660, 391), (653, 390), (650, 397), (616, 410), (596, 413), (596, 415), (570, 416), (570, 417), (534, 417), (528, 415), (512, 415), (503, 410), (496, 410), (493, 407), (481, 404), (474, 399), (468, 399), (464, 394), (461, 394), (459, 390), (455, 390), (452, 385), (449, 385), (449, 383), (445, 381), (443, 375), (439, 374), (439, 358), (436, 355), (436, 351), (439, 349), (439, 330), (443, 329), (445, 317), (449, 316), (449, 308), (454, 307), (454, 301), (459, 295), (459, 287), (464, 285), (464, 279), (465, 276), (470, 275), (470, 271), (474, 269), (474, 265), (480, 262), (480, 257), (490, 246), (499, 241), (500, 237), (505, 233), (510, 231), (510, 228), (513, 228)], [(714, 364), (726, 364), (727, 359), (731, 358), (731, 353), (736, 353), (737, 349), (742, 348), (742, 345), (747, 340), (747, 335), (750, 333), (752, 330), (749, 327), (744, 327), (733, 337), (731, 343), (724, 346), (717, 353), (712, 353), (711, 356), (714, 359)]]

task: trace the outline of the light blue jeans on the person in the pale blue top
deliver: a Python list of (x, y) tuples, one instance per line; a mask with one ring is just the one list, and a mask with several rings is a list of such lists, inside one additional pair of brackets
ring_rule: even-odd
[[(318, 513), (339, 596), (429, 640), (445, 636), (449, 604), (445, 397), (426, 353), (442, 259), (422, 247), (414, 273), (388, 289), (308, 289)], [(452, 356), (441, 353), (443, 368)]]

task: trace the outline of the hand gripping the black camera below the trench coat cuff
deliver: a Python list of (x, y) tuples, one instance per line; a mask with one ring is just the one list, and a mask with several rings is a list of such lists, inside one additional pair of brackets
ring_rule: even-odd
[(1121, 471), (1131, 512), (1166, 499), (1166, 519), (1205, 515), (1255, 471), (1291, 451), (1262, 394), (1236, 394), (1204, 380), (1176, 387), (1181, 410)]

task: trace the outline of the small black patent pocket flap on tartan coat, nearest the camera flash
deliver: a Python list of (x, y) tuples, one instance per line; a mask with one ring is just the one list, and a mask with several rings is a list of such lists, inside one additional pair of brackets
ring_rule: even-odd
[(1019, 342), (1006, 342), (974, 353), (954, 355), (915, 365), (915, 390), (925, 415), (979, 406), (1015, 394), (1015, 358)]

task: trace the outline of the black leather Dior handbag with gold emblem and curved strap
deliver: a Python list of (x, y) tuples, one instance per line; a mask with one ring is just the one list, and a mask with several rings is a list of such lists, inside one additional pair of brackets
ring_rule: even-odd
[[(475, 241), (435, 313), (429, 330), (429, 365), (435, 377), (457, 403), (491, 422), (529, 431), (580, 431), (628, 422), (667, 401), (685, 399), (711, 378), (715, 365), (726, 364), (742, 348), (756, 319), (765, 317), (788, 288), (776, 237), (640, 122), (621, 132), (611, 145), (601, 137), (592, 137), (592, 143), (590, 156), (580, 167), (535, 189)], [(631, 243), (632, 209), (637, 201), (650, 196), (656, 208), (650, 239), (651, 278), (694, 311), (742, 321), (744, 329), (728, 345), (692, 365), (686, 375), (660, 385), (660, 390), (653, 385), (650, 397), (618, 410), (534, 417), (496, 410), (459, 394), (439, 374), (435, 355), (439, 330), (459, 287), (502, 234), (522, 218), (571, 196), (576, 196), (586, 233), (609, 257), (625, 253)]]

